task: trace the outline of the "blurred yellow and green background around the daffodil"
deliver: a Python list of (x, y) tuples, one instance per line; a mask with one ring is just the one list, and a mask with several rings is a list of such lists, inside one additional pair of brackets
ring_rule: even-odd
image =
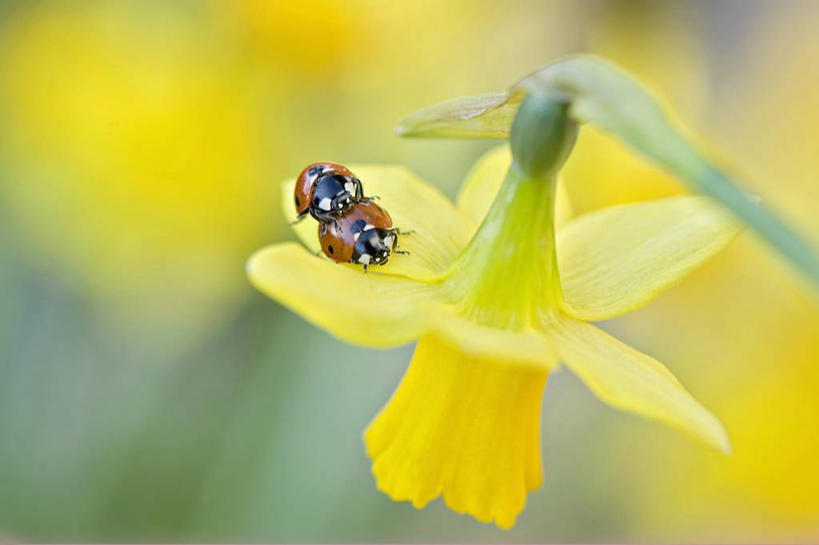
[[(733, 455), (559, 373), (509, 532), (376, 489), (361, 433), (411, 346), (345, 345), (244, 275), (291, 238), (280, 180), (393, 162), (452, 196), (492, 143), (394, 124), (580, 51), (817, 241), (817, 28), (787, 1), (0, 1), (0, 541), (818, 541), (817, 299), (752, 234), (606, 323)], [(578, 213), (682, 192), (588, 127), (565, 183)]]

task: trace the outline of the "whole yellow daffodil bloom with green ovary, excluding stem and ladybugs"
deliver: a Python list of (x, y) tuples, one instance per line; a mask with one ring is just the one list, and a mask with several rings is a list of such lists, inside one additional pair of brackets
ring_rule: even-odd
[[(509, 528), (540, 486), (540, 405), (565, 365), (610, 405), (722, 451), (719, 420), (660, 362), (589, 324), (645, 305), (722, 249), (738, 223), (705, 197), (604, 209), (563, 223), (557, 172), (574, 143), (566, 105), (527, 98), (507, 146), (482, 158), (453, 204), (398, 166), (351, 165), (411, 235), (376, 273), (276, 244), (248, 262), (253, 284), (344, 341), (418, 340), (392, 399), (365, 432), (378, 487), (418, 508), (443, 496)], [(505, 174), (505, 176), (504, 176)], [(283, 184), (292, 219), (293, 180)], [(556, 230), (556, 217), (561, 223)]]

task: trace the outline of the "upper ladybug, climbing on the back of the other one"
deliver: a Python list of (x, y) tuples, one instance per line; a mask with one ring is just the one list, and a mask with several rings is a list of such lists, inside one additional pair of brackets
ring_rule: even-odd
[(357, 202), (369, 202), (364, 196), (361, 180), (350, 169), (336, 163), (307, 165), (296, 179), (293, 191), (296, 213), (301, 221), (308, 213), (319, 223), (343, 216)]

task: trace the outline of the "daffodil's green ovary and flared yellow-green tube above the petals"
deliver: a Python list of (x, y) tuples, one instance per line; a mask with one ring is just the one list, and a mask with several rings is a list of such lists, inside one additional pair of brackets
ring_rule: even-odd
[(523, 329), (560, 306), (555, 252), (557, 173), (577, 138), (563, 101), (527, 97), (512, 126), (513, 162), (449, 282), (462, 312), (484, 324)]

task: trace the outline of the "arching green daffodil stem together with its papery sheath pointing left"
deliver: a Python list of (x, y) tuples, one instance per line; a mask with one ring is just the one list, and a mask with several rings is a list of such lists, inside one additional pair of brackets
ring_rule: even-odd
[(568, 101), (572, 119), (597, 125), (692, 191), (721, 203), (819, 286), (816, 248), (775, 212), (734, 185), (651, 93), (599, 57), (568, 57), (532, 73), (509, 92), (464, 97), (425, 108), (401, 121), (396, 130), (402, 136), (415, 137), (504, 137), (522, 97), (533, 95)]

